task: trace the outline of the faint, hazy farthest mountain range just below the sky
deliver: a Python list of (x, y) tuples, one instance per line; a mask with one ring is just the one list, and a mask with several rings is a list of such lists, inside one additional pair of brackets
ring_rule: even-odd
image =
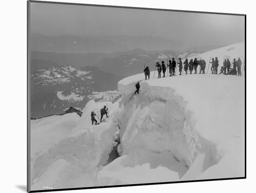
[(74, 35), (47, 36), (32, 33), (30, 50), (54, 53), (114, 53), (134, 48), (145, 50), (182, 50), (181, 42), (151, 36), (88, 36)]

